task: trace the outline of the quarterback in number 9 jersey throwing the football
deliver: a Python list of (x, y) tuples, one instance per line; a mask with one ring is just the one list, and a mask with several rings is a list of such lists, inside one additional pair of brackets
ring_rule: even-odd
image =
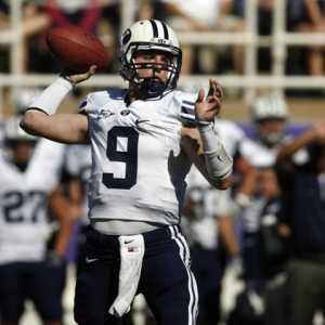
[(232, 184), (232, 159), (212, 120), (223, 92), (216, 80), (198, 94), (174, 91), (182, 53), (173, 30), (141, 21), (120, 40), (119, 74), (129, 89), (91, 93), (80, 114), (55, 114), (75, 83), (65, 72), (27, 109), (28, 133), (65, 143), (91, 143), (90, 226), (86, 266), (78, 276), (78, 324), (118, 324), (142, 292), (159, 324), (195, 324), (197, 288), (180, 232), (192, 162), (208, 182)]

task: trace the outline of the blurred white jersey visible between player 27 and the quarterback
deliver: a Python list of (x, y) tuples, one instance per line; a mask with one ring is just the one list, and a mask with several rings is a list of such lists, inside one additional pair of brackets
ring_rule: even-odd
[(82, 186), (82, 224), (88, 224), (88, 181), (91, 174), (91, 147), (90, 145), (72, 144), (66, 146), (65, 168), (67, 172), (79, 180)]

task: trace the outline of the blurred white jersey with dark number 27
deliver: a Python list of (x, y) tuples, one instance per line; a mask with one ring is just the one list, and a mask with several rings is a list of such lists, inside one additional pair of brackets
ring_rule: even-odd
[(0, 155), (0, 264), (43, 259), (48, 197), (60, 181), (63, 155), (63, 144), (40, 139), (24, 172)]

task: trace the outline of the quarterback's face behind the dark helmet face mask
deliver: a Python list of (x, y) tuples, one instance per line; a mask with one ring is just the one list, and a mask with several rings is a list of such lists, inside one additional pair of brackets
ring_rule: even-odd
[[(171, 63), (171, 55), (165, 51), (158, 50), (140, 50), (136, 51), (134, 57), (138, 67), (139, 79), (152, 79), (154, 77), (155, 82), (166, 82), (168, 77), (168, 70), (164, 69), (164, 66)], [(148, 68), (144, 68), (145, 64), (150, 64)], [(154, 65), (154, 66), (152, 66)]]

